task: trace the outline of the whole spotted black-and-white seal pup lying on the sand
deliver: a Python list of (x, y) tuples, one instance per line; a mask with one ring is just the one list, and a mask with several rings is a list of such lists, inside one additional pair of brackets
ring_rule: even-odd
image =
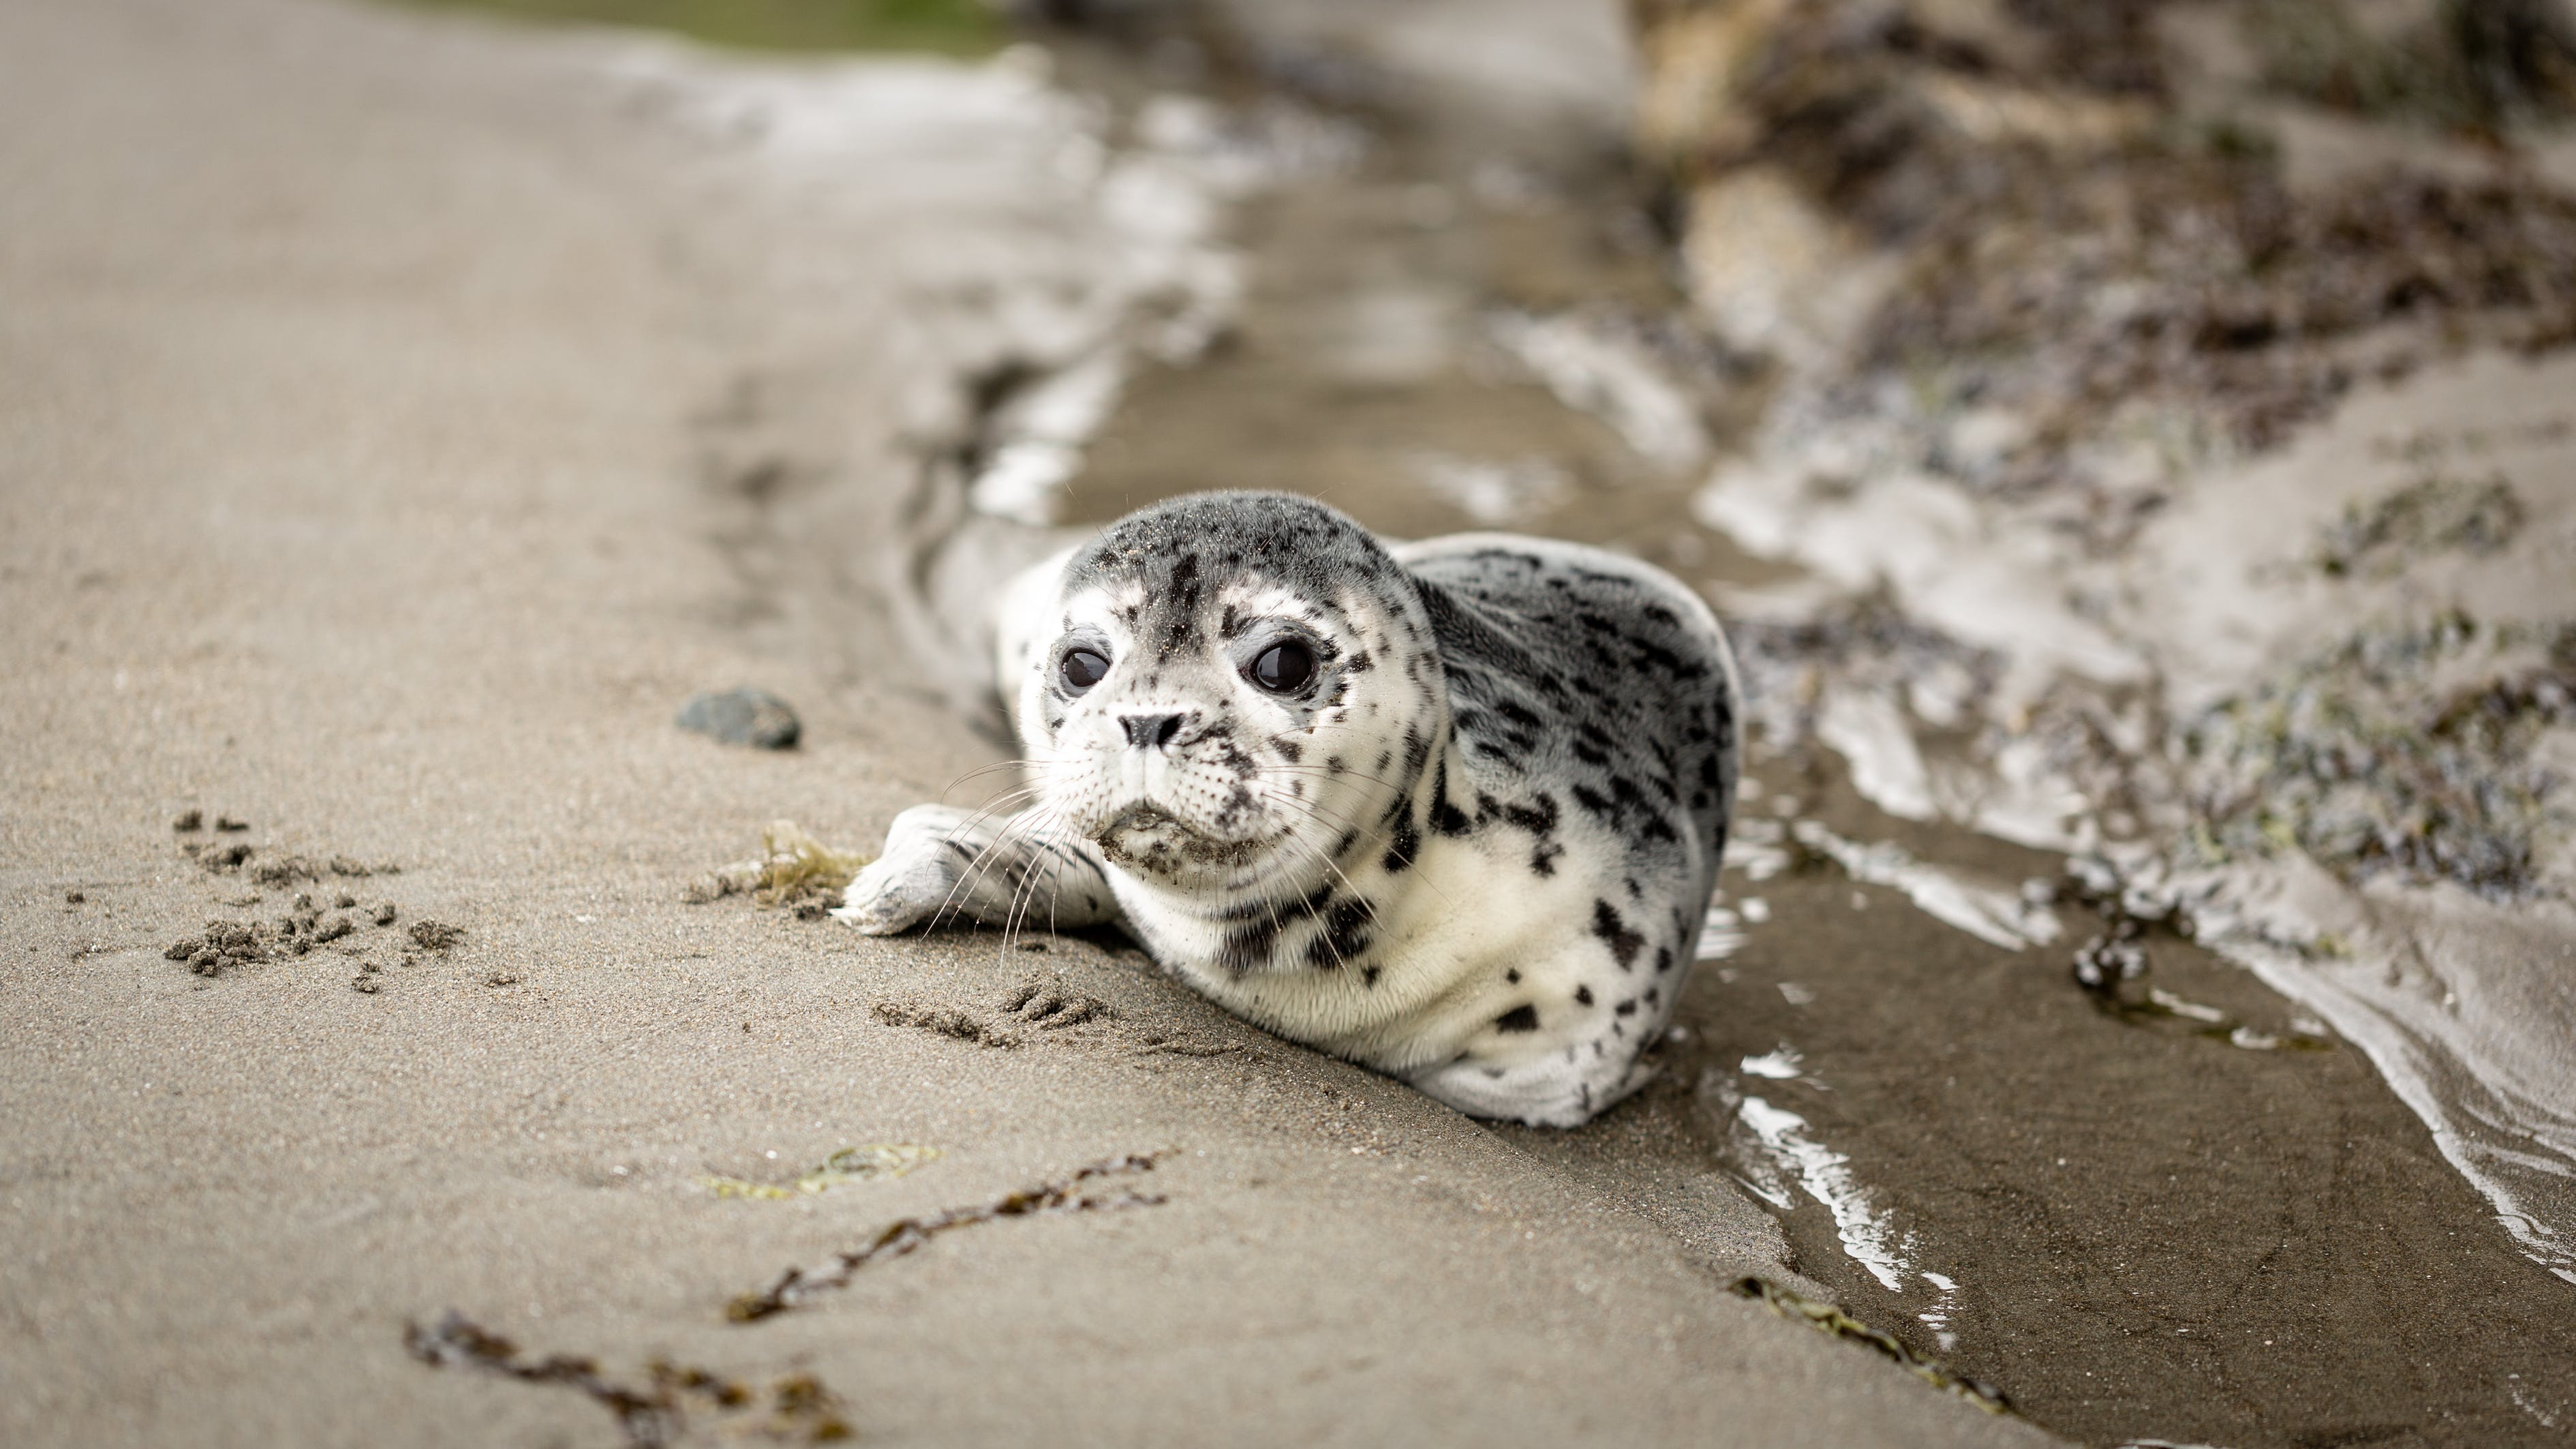
[(1012, 583), (997, 668), (1030, 804), (902, 812), (842, 920), (1118, 920), (1473, 1116), (1577, 1127), (1646, 1078), (1736, 794), (1734, 663), (1674, 578), (1203, 492)]

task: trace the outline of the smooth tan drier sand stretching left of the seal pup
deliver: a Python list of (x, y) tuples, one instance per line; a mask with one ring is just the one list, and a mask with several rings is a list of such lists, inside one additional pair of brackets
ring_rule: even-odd
[[(804, 1369), (873, 1441), (2040, 1441), (1731, 1297), (1783, 1245), (1710, 1173), (1615, 1194), (1097, 944), (680, 905), (770, 817), (868, 841), (984, 758), (896, 665), (878, 544), (992, 345), (976, 268), (1072, 253), (1025, 255), (1007, 106), (824, 188), (649, 98), (585, 41), (394, 13), (0, 8), (0, 1441), (618, 1441), (410, 1359), (448, 1307), (611, 1374)], [(670, 727), (739, 681), (801, 750)], [(402, 871), (209, 874), (183, 810), (252, 866)], [(162, 957), (343, 887), (397, 926)], [(1030, 975), (1115, 1016), (1012, 1021)], [(698, 1181), (866, 1142), (945, 1155)], [(1159, 1207), (724, 1320), (1123, 1152)]]

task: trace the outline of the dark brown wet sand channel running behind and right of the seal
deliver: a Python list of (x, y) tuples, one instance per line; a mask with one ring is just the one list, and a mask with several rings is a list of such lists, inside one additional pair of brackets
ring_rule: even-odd
[[(1682, 307), (1633, 183), (1558, 157), (1479, 193), (1494, 155), (1440, 116), (1396, 106), (1373, 137), (1365, 162), (1239, 211), (1239, 335), (1131, 384), (1066, 518), (1291, 487), (1404, 536), (1507, 523), (1625, 547), (1721, 614), (1795, 588), (1793, 565), (1692, 521), (1705, 469), (1656, 467), (1510, 348), (1515, 317), (1638, 340)], [(1698, 379), (1713, 446), (1739, 446), (1759, 379)], [(1455, 487), (1473, 469), (1484, 490)], [(1749, 773), (1754, 820), (1896, 843), (2007, 897), (2040, 882), (2056, 941), (1999, 949), (1814, 851), (1728, 869), (1721, 900), (1759, 920), (1692, 977), (1664, 1080), (1592, 1129), (1504, 1137), (1643, 1212), (1674, 1173), (1726, 1168), (1844, 1310), (2079, 1441), (2555, 1444), (2576, 1426), (2566, 1284), (2362, 1049), (2172, 928), (2143, 931), (2125, 1008), (2099, 1000), (2071, 957), (2112, 923), (2063, 856), (1886, 815), (1814, 743), (1757, 750)]]

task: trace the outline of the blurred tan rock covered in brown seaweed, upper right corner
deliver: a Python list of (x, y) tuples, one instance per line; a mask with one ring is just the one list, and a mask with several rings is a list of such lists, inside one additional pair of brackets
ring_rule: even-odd
[[(2352, 10), (2257, 10), (2293, 8)], [(2117, 547), (2177, 469), (2277, 446), (2360, 382), (2576, 343), (2576, 196), (2527, 165), (2293, 186), (2264, 95), (2182, 103), (2159, 10), (1638, 3), (1638, 144), (1700, 309), (1793, 369), (1788, 433)], [(2499, 116), (2576, 98), (2537, 0), (2442, 15), (2432, 59), (2391, 64)]]

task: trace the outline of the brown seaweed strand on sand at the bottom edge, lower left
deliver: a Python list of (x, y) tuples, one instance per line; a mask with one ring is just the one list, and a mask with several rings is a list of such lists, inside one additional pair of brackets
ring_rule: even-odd
[(760, 1392), (708, 1369), (654, 1359), (644, 1366), (644, 1382), (634, 1385), (603, 1374), (598, 1359), (520, 1354), (518, 1343), (456, 1310), (435, 1328), (404, 1323), (402, 1346), (433, 1369), (474, 1369), (574, 1390), (618, 1421), (629, 1449), (680, 1444), (690, 1415), (716, 1415), (729, 1436), (778, 1444), (835, 1444), (853, 1436), (842, 1403), (814, 1374), (783, 1374)]

